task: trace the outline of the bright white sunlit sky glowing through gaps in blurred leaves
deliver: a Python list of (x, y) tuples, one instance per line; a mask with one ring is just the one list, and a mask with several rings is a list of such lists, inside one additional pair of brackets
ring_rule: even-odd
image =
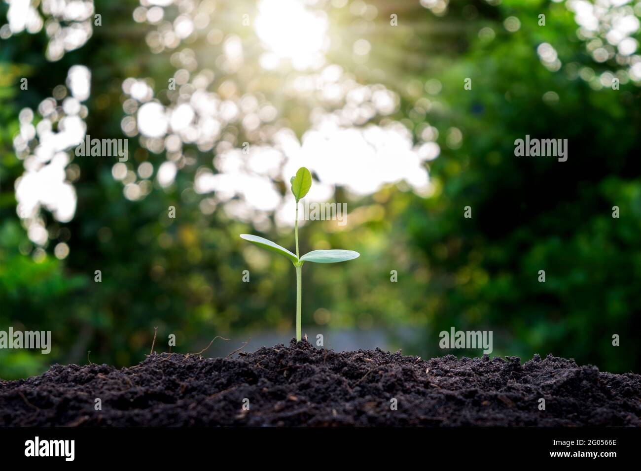
[[(90, 47), (92, 1), (8, 3), (0, 38), (43, 31), (49, 61)], [(445, 0), (417, 4), (434, 13), (436, 21), (447, 15)], [(633, 37), (641, 3), (568, 0), (565, 6), (592, 60), (613, 59), (619, 65), (597, 74), (569, 64), (567, 76), (574, 74), (595, 90), (610, 86), (615, 77), (641, 84), (641, 56)], [(147, 76), (122, 81), (122, 135), (100, 137), (137, 139), (150, 154), (142, 164), (133, 159), (110, 164), (123, 196), (144, 199), (154, 185), (171, 191), (178, 172), (196, 165), (197, 149), (210, 156), (194, 172), (193, 189), (202, 198), (203, 213), (222, 210), (262, 230), (271, 228), (272, 214), (277, 226), (294, 223), (294, 200), (282, 194), (278, 182), (289, 181), (301, 166), (319, 179), (309, 201), (333, 199), (337, 186), (356, 198), (394, 184), (428, 197), (433, 188), (426, 163), (440, 156), (442, 145), (460, 147), (465, 129), (437, 129), (426, 121), (410, 129), (399, 121), (406, 84), (390, 89), (394, 81), (387, 78), (396, 71), (369, 65), (377, 51), (368, 38), (338, 28), (345, 17), (358, 24), (388, 22), (382, 14), (360, 0), (183, 0), (179, 5), (140, 0), (131, 12), (131, 28), (144, 29), (149, 54), (171, 64), (176, 88)], [(515, 33), (521, 22), (510, 16), (502, 26)], [(494, 29), (479, 28), (480, 40), (494, 36)], [(354, 70), (364, 70), (369, 79), (356, 79), (354, 70), (344, 69), (345, 62), (333, 63), (337, 53), (351, 58)], [(542, 67), (563, 69), (558, 45), (541, 42), (535, 53)], [(60, 222), (76, 212), (74, 181), (81, 163), (74, 162), (72, 149), (92, 134), (85, 124), (91, 110), (83, 104), (90, 97), (91, 73), (74, 65), (67, 83), (52, 84), (51, 97), (36, 110), (20, 112), (20, 133), (13, 140), (24, 161), (24, 175), (15, 186), (17, 212), (38, 245), (47, 244), (42, 208)], [(428, 79), (419, 88), (412, 112), (425, 115), (439, 106), (442, 86)], [(550, 92), (543, 99), (559, 97)]]

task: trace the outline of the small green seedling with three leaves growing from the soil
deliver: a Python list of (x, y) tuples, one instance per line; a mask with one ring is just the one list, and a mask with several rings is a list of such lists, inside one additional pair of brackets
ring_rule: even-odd
[(337, 263), (338, 261), (353, 260), (360, 256), (358, 252), (352, 250), (313, 250), (299, 256), (298, 252), (298, 202), (310, 191), (312, 188), (312, 174), (305, 167), (301, 167), (296, 172), (296, 176), (292, 177), (292, 193), (296, 198), (296, 223), (294, 224), (294, 237), (296, 238), (296, 255), (292, 252), (281, 247), (280, 245), (267, 240), (264, 237), (254, 236), (250, 234), (241, 234), (240, 237), (258, 245), (263, 249), (267, 249), (277, 254), (287, 257), (296, 268), (296, 341), (301, 341), (301, 300), (303, 298), (303, 263), (306, 261), (313, 261), (315, 263)]

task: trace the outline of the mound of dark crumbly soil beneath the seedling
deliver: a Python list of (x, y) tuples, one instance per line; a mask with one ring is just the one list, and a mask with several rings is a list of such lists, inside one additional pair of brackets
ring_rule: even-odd
[(641, 426), (641, 375), (506, 358), (292, 341), (238, 358), (154, 354), (122, 370), (54, 365), (0, 381), (0, 426)]

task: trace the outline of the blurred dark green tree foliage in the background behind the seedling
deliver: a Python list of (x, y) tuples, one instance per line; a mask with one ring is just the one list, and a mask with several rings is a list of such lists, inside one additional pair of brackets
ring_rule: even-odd
[[(294, 333), (289, 262), (262, 258), (243, 244), (238, 234), (253, 228), (222, 211), (199, 210), (194, 172), (211, 165), (211, 153), (192, 149), (197, 165), (182, 169), (169, 190), (156, 188), (138, 202), (123, 197), (111, 163), (75, 160), (81, 167), (76, 215), (68, 224), (49, 218), (47, 256), (34, 258), (13, 195), (22, 173), (12, 149), (19, 110), (35, 108), (64, 83), (72, 64), (82, 63), (92, 70), (88, 132), (117, 136), (122, 79), (172, 74), (167, 56), (149, 53), (142, 43), (145, 28), (131, 19), (137, 2), (97, 4), (103, 21), (116, 24), (96, 28), (87, 45), (58, 62), (44, 60), (43, 34), (0, 40), (0, 329), (53, 335), (49, 356), (0, 350), (3, 378), (37, 374), (53, 361), (83, 362), (88, 350), (94, 363), (131, 365), (149, 352), (153, 326), (163, 336), (176, 334), (178, 351), (185, 352), (197, 351), (198, 340), (238, 329)], [(392, 345), (422, 356), (444, 353), (438, 332), (451, 326), (490, 329), (494, 354), (551, 352), (603, 370), (639, 372), (640, 88), (594, 90), (565, 67), (542, 66), (537, 45), (549, 42), (563, 63), (598, 67), (563, 4), (456, 1), (438, 18), (417, 2), (403, 2), (401, 26), (386, 34), (380, 31), (393, 9), (374, 4), (378, 28), (364, 35), (378, 51), (372, 67), (392, 70), (385, 85), (401, 90), (396, 118), (412, 129), (429, 122), (439, 131), (442, 151), (429, 162), (435, 190), (422, 198), (403, 185), (388, 186), (349, 201), (348, 230), (335, 222), (301, 229), (303, 253), (328, 247), (361, 253), (358, 263), (303, 270), (303, 325), (312, 326), (313, 313), (324, 308), (331, 329), (379, 328), (393, 336), (397, 327), (410, 326), (424, 332), (420, 342), (392, 338)], [(545, 28), (537, 25), (542, 11)], [(0, 18), (4, 13), (3, 5)], [(503, 28), (510, 15), (521, 21), (515, 33)], [(363, 36), (340, 26), (346, 42)], [(479, 40), (483, 27), (495, 38)], [(348, 58), (331, 60), (354, 68)], [(29, 77), (28, 92), (18, 90), (22, 76)], [(465, 78), (472, 78), (472, 90), (463, 90)], [(429, 96), (438, 106), (412, 112), (417, 96), (403, 90), (429, 79), (442, 84)], [(542, 99), (549, 91), (558, 102)], [(462, 140), (448, 145), (453, 127)], [(516, 158), (513, 142), (526, 134), (567, 138), (568, 161)], [(129, 142), (135, 163), (162, 163), (162, 155), (135, 141)], [(337, 201), (345, 198), (338, 188)], [(176, 219), (167, 219), (171, 205)], [(471, 219), (463, 218), (465, 206)], [(612, 218), (613, 206), (619, 219)], [(293, 236), (263, 235), (293, 247)], [(52, 254), (58, 241), (71, 247), (62, 261)], [(253, 283), (242, 283), (247, 268)], [(95, 270), (101, 283), (94, 283)], [(397, 270), (397, 283), (390, 283), (390, 270)], [(537, 281), (539, 270), (545, 283)], [(612, 347), (615, 333), (620, 347)]]

